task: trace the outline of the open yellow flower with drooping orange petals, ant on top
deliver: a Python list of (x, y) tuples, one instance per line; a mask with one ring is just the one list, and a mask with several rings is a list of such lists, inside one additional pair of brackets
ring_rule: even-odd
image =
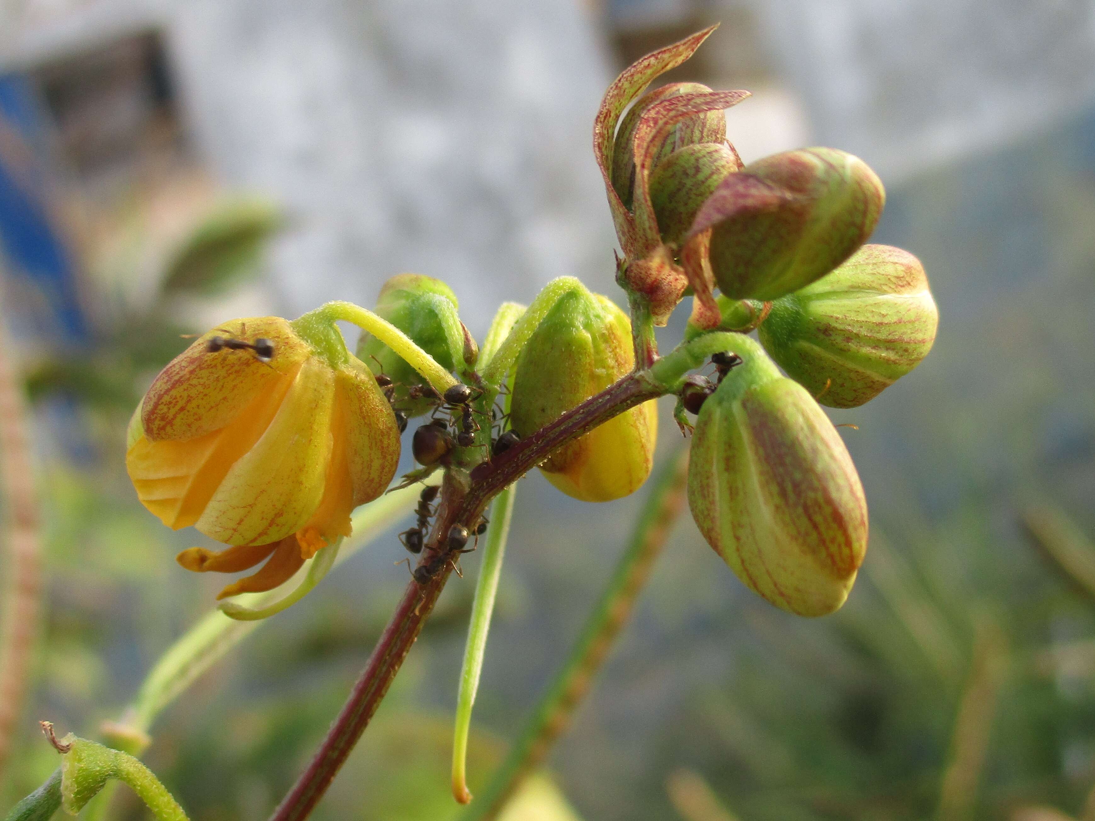
[(395, 416), (337, 329), (264, 316), (210, 331), (163, 369), (130, 421), (126, 466), (164, 524), (230, 545), (184, 551), (183, 567), (238, 573), (269, 557), (223, 598), (270, 590), (349, 535), (399, 456)]

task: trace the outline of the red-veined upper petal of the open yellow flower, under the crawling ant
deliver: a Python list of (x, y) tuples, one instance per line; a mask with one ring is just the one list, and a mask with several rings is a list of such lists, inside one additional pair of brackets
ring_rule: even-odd
[[(249, 343), (265, 337), (274, 343), (274, 357), (263, 362), (253, 350), (210, 351), (214, 336)], [(223, 428), (310, 355), (308, 344), (280, 317), (224, 323), (160, 371), (141, 404), (145, 435), (152, 441), (194, 439)]]

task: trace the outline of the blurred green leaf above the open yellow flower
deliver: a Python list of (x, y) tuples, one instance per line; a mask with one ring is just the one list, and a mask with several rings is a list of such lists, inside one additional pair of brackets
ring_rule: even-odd
[(284, 212), (267, 200), (221, 205), (168, 263), (163, 292), (223, 293), (257, 271), (264, 245), (284, 226)]

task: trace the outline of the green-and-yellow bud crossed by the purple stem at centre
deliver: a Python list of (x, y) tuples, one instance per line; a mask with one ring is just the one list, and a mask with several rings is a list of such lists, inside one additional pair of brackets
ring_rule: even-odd
[[(510, 424), (522, 438), (629, 373), (635, 365), (627, 315), (581, 289), (562, 297), (517, 360)], [(556, 450), (541, 470), (583, 501), (634, 493), (654, 462), (657, 405), (646, 402)]]

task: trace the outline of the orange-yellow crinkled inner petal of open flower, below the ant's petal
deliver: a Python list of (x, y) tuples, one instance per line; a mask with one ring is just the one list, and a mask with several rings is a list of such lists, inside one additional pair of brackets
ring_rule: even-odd
[(195, 524), (232, 465), (266, 431), (292, 384), (279, 378), (230, 425), (197, 439), (150, 441), (138, 435), (126, 453), (126, 469), (145, 507), (174, 530)]

